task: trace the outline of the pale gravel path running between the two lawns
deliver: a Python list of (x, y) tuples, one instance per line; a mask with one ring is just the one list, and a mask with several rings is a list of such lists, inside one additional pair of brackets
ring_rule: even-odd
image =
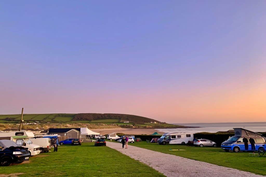
[[(164, 154), (135, 146), (122, 149), (122, 144), (106, 142), (107, 146), (145, 163), (166, 176), (261, 176), (250, 172), (200, 162), (172, 154)], [(242, 163), (242, 162), (239, 162)]]

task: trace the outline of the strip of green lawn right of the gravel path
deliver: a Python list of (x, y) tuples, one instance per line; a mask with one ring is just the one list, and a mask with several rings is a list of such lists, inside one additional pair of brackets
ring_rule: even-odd
[[(249, 157), (248, 152), (233, 153), (225, 152), (221, 148), (159, 145), (157, 143), (147, 143), (144, 141), (136, 142), (130, 145), (198, 161), (209, 162), (220, 166), (236, 168), (260, 175), (266, 175), (266, 157)], [(186, 151), (169, 151), (170, 148), (184, 149)]]

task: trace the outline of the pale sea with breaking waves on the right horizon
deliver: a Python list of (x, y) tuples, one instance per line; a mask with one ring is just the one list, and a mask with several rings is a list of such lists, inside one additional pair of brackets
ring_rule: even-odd
[(244, 128), (253, 132), (266, 132), (266, 122), (242, 122), (242, 123), (188, 123), (188, 124), (176, 124), (187, 127), (200, 127), (200, 128), (166, 128), (156, 129), (160, 132), (188, 132), (199, 133), (209, 132), (216, 133), (218, 131), (233, 130), (233, 128)]

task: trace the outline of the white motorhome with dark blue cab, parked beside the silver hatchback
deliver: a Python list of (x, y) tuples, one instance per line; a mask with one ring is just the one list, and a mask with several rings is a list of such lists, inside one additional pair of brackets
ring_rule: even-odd
[(186, 144), (188, 141), (193, 141), (193, 133), (164, 133), (157, 142), (161, 145), (166, 144)]

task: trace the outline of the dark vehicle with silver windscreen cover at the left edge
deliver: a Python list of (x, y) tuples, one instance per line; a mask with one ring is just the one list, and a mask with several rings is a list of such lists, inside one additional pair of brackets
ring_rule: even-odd
[(11, 140), (0, 140), (0, 166), (9, 166), (11, 163), (28, 161), (30, 153), (26, 148), (18, 146)]

